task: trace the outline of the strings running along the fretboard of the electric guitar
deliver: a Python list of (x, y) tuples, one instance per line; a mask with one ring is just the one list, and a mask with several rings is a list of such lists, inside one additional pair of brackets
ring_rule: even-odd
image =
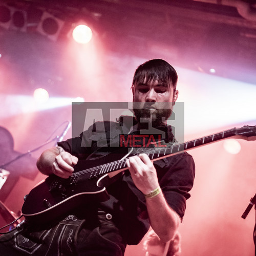
[[(200, 141), (203, 141), (203, 143), (204, 143), (204, 141), (205, 140), (207, 140), (207, 139), (211, 139), (211, 138), (213, 138), (214, 136), (215, 136), (215, 139), (218, 137), (218, 136), (220, 136), (220, 135), (223, 135), (224, 136), (224, 133), (225, 133), (225, 136), (227, 136), (227, 134), (228, 133), (231, 133), (231, 132), (233, 132), (233, 131), (237, 131), (237, 130), (245, 130), (245, 132), (246, 132), (246, 130), (248, 130), (248, 129), (252, 129), (252, 131), (253, 131), (253, 127), (251, 127), (251, 126), (246, 126), (246, 127), (242, 127), (242, 128), (233, 128), (233, 129), (230, 129), (230, 130), (227, 130), (227, 131), (222, 131), (222, 132), (220, 132), (220, 133), (217, 133), (217, 134), (211, 134), (211, 135), (208, 135), (208, 136), (205, 136), (205, 137), (202, 137), (202, 138), (198, 138), (198, 139), (195, 139), (195, 140), (192, 140), (192, 141), (187, 141), (187, 142), (184, 142), (184, 143), (181, 143), (181, 144), (172, 144), (172, 145), (170, 145), (170, 146), (166, 146), (166, 147), (164, 147), (164, 149), (163, 148), (154, 148), (154, 150), (151, 150), (151, 151), (149, 151), (149, 152), (146, 152), (145, 154), (147, 154), (148, 156), (150, 156), (151, 154), (155, 154), (155, 153), (161, 153), (161, 151), (163, 151), (163, 150), (165, 150), (165, 152), (164, 152), (164, 155), (165, 155), (165, 153), (166, 153), (166, 150), (167, 149), (169, 149), (169, 148), (172, 148), (172, 152), (179, 152), (179, 151), (182, 151), (182, 150), (179, 150), (179, 148), (180, 148), (180, 146), (182, 146), (182, 148), (183, 148), (183, 146), (186, 144), (186, 148), (185, 149), (187, 149), (187, 146), (188, 145), (190, 145), (190, 144), (193, 144), (195, 141), (197, 141), (197, 142), (200, 142)], [(255, 129), (255, 128), (254, 128)], [(248, 132), (248, 131), (247, 131)], [(232, 136), (232, 134), (230, 134), (229, 135), (229, 137), (230, 136)], [(224, 137), (223, 137), (224, 138)], [(209, 143), (209, 142), (207, 142), (207, 143)], [(195, 145), (194, 145), (195, 146)], [(177, 148), (178, 148), (178, 150), (177, 150)], [(177, 151), (176, 151), (177, 150)], [(172, 152), (171, 152), (171, 154), (172, 154)], [(129, 157), (130, 158), (130, 157)], [(129, 158), (125, 158), (125, 159), (122, 159), (122, 160), (117, 160), (117, 161), (114, 161), (114, 162), (111, 162), (111, 163), (106, 163), (106, 164), (102, 164), (102, 165), (99, 165), (99, 166), (96, 166), (96, 167), (92, 167), (92, 168), (89, 168), (89, 169), (86, 169), (86, 170), (81, 170), (81, 171), (79, 171), (79, 172), (76, 172), (76, 173), (74, 173), (71, 177), (76, 177), (76, 176), (79, 176), (79, 175), (84, 175), (84, 174), (87, 174), (87, 173), (93, 173), (94, 171), (98, 171), (98, 170), (101, 170), (102, 168), (104, 168), (104, 167), (106, 167), (106, 168), (108, 168), (109, 166), (116, 166), (116, 164), (117, 164), (117, 167), (120, 165), (120, 166), (122, 166), (122, 164), (124, 163), (124, 162), (126, 162), (126, 160), (127, 159), (129, 159)], [(120, 164), (121, 163), (121, 164)], [(124, 166), (123, 167), (126, 167), (125, 166), (126, 165), (126, 163), (124, 164)], [(119, 168), (120, 169), (120, 168)], [(117, 170), (118, 170), (118, 168), (117, 168)], [(106, 173), (109, 173), (109, 169), (108, 169), (108, 172), (106, 172)]]

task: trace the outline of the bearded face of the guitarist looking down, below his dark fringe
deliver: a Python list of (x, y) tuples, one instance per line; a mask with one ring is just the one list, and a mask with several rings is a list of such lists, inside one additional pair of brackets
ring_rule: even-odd
[[(146, 79), (144, 80), (146, 81)], [(172, 115), (172, 109), (178, 97), (178, 91), (172, 86), (166, 87), (158, 80), (135, 84), (133, 111), (138, 120), (151, 122), (159, 126)]]

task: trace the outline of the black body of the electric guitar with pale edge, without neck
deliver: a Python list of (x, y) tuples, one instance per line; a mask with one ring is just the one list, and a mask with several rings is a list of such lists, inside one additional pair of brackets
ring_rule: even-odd
[(40, 182), (25, 197), (22, 207), (25, 218), (30, 222), (45, 223), (67, 214), (79, 205), (108, 200), (110, 197), (105, 186), (115, 181), (115, 178), (110, 179), (108, 174), (92, 177), (92, 172), (87, 172), (87, 169), (94, 169), (92, 166), (106, 159), (108, 156), (97, 160), (80, 160), (69, 179), (51, 175)]

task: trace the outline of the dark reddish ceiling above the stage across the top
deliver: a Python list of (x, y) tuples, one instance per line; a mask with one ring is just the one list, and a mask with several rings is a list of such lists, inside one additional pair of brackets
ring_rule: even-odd
[(5, 2), (28, 11), (27, 33), (41, 11), (64, 20), (65, 32), (83, 18), (110, 52), (165, 58), (205, 73), (215, 68), (216, 75), (256, 84), (256, 1)]

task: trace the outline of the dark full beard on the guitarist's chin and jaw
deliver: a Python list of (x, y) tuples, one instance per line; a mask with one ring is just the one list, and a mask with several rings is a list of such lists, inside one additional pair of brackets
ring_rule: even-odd
[[(148, 109), (151, 108), (150, 105), (152, 105), (152, 103), (150, 102), (143, 102), (143, 106), (142, 102), (134, 102), (133, 112), (141, 128), (148, 129), (149, 126), (158, 127), (161, 125), (166, 125), (166, 120), (173, 113), (173, 105), (172, 102), (161, 103), (164, 103), (165, 108), (162, 104), (161, 106), (163, 108), (157, 108), (156, 110), (152, 110)], [(166, 106), (166, 103), (168, 104), (168, 106)]]

